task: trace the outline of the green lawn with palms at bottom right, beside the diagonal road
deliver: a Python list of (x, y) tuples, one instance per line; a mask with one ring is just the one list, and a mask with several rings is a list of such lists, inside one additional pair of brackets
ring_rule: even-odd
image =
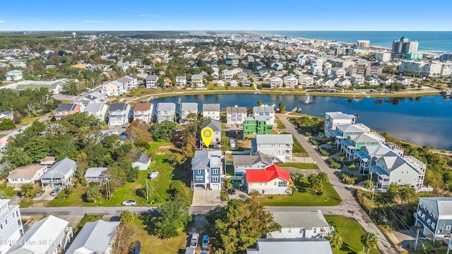
[[(327, 221), (334, 220), (343, 240), (343, 246), (339, 250), (333, 250), (334, 254), (350, 254), (362, 250), (361, 236), (364, 234), (364, 229), (355, 219), (343, 215), (325, 215), (325, 218)], [(379, 254), (380, 251), (374, 248), (370, 253)]]

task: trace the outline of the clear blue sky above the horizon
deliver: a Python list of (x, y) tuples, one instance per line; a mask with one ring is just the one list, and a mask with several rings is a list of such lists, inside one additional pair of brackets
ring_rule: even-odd
[(450, 31), (452, 1), (4, 0), (11, 30)]

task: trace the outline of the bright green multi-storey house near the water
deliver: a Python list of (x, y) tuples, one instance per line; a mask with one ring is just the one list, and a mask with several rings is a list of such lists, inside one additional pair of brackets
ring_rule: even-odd
[(243, 123), (243, 138), (255, 138), (257, 134), (273, 134), (274, 123), (270, 116), (247, 116)]

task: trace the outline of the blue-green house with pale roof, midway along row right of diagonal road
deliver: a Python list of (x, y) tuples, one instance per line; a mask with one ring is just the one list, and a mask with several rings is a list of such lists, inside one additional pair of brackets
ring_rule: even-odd
[(384, 141), (385, 138), (375, 132), (349, 135), (346, 139), (343, 139), (342, 144), (340, 144), (340, 152), (343, 152), (348, 160), (352, 160), (357, 158), (355, 151), (359, 151), (359, 148), (362, 145), (384, 144)]

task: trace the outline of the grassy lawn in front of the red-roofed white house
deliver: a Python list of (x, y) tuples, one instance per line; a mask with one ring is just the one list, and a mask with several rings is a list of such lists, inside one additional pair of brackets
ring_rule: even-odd
[[(299, 184), (300, 192), (295, 191), (294, 195), (266, 195), (258, 198), (262, 205), (266, 206), (335, 206), (339, 205), (341, 199), (334, 190), (331, 183), (323, 185), (321, 195), (314, 195), (307, 181)], [(272, 198), (273, 196), (273, 198)]]

